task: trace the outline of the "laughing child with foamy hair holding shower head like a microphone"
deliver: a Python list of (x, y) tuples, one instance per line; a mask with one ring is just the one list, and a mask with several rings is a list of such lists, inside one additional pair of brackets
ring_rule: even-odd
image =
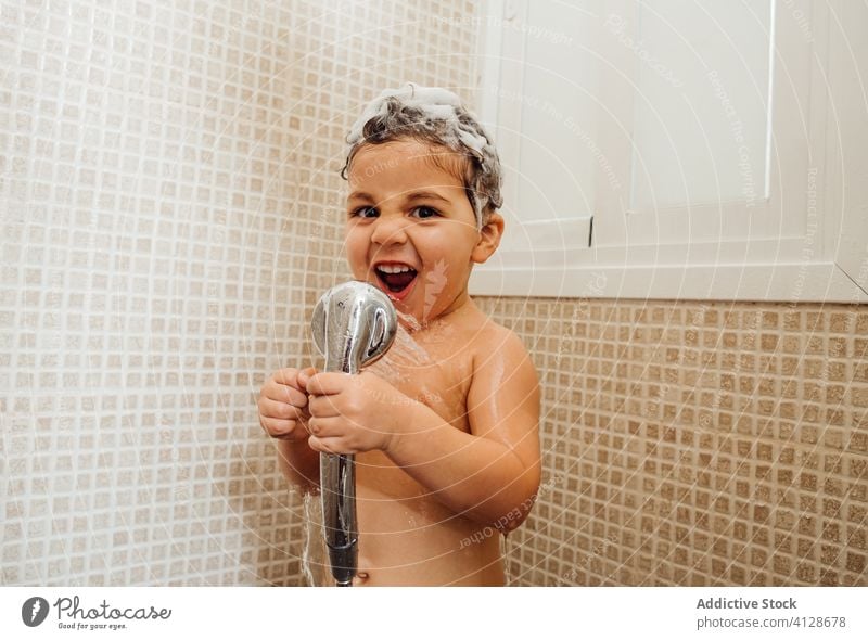
[(259, 398), (281, 469), (308, 490), (319, 453), (356, 455), (354, 585), (503, 585), (498, 533), (539, 487), (539, 389), (521, 341), (468, 296), (497, 248), (500, 164), (449, 91), (385, 91), (347, 141), (346, 253), (401, 330), (359, 375), (281, 369)]

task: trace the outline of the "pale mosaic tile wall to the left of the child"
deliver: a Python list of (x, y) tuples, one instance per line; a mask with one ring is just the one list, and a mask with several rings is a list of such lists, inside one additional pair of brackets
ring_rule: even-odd
[(343, 269), (345, 130), (470, 87), (470, 11), (0, 0), (0, 584), (301, 580), (255, 399)]

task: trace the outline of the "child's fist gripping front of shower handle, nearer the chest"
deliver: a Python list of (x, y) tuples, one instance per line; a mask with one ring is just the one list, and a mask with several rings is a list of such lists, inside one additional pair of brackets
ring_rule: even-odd
[(396, 428), (417, 405), (380, 376), (366, 371), (318, 373), (307, 381), (311, 449), (324, 453), (385, 451)]

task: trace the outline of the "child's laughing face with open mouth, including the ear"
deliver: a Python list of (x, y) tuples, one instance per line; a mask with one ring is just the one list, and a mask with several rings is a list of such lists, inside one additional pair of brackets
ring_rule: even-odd
[(347, 176), (353, 277), (384, 291), (419, 322), (468, 300), (471, 268), (494, 253), (502, 231), (497, 214), (476, 229), (462, 181), (432, 162), (433, 154), (446, 161), (441, 165), (455, 163), (455, 152), (411, 139), (368, 144)]

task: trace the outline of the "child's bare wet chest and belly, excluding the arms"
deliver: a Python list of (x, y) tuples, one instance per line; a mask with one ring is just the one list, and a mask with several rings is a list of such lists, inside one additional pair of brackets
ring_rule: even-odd
[[(467, 397), (474, 355), (503, 331), (473, 309), (408, 333), (369, 368), (455, 428), (470, 433)], [(359, 586), (503, 585), (500, 535), (452, 513), (382, 451), (356, 456)]]

